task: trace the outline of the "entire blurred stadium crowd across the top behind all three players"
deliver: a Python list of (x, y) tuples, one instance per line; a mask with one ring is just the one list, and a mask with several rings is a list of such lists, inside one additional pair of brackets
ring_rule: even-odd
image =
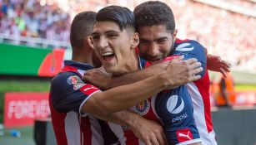
[[(69, 41), (69, 27), (76, 13), (98, 11), (110, 4), (131, 10), (146, 0), (0, 0), (0, 33)], [(228, 12), (189, 0), (162, 0), (172, 9), (178, 37), (194, 39), (208, 52), (222, 56), (234, 69), (256, 72), (256, 18)], [(256, 3), (233, 0), (255, 9)]]

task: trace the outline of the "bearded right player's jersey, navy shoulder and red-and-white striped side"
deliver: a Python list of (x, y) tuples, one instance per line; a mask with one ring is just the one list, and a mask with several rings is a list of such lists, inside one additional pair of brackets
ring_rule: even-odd
[(186, 86), (193, 102), (193, 116), (197, 124), (200, 138), (203, 140), (203, 145), (217, 145), (215, 133), (213, 131), (210, 109), (210, 80), (203, 46), (201, 46), (197, 41), (176, 39), (173, 47), (174, 55), (183, 55), (185, 60), (189, 58), (196, 58), (202, 63), (202, 78), (188, 83)]

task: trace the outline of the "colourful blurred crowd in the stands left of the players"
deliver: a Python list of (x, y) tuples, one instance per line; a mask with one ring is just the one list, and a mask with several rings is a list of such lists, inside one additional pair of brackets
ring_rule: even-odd
[(3, 0), (0, 33), (69, 41), (70, 15), (57, 3), (38, 0)]

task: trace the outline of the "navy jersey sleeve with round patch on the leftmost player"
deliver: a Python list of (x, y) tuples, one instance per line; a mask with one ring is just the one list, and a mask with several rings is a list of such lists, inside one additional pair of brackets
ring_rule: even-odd
[(74, 111), (82, 116), (83, 104), (96, 92), (101, 91), (97, 87), (85, 84), (76, 73), (63, 73), (53, 78), (50, 96), (53, 107), (59, 112), (67, 113)]

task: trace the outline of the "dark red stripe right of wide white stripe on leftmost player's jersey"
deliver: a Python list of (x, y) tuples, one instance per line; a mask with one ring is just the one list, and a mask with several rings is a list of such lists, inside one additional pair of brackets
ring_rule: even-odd
[[(80, 117), (81, 118), (81, 117)], [(82, 117), (81, 118), (81, 139), (83, 138), (83, 145), (92, 145), (92, 130), (91, 130), (91, 123), (90, 118)]]

